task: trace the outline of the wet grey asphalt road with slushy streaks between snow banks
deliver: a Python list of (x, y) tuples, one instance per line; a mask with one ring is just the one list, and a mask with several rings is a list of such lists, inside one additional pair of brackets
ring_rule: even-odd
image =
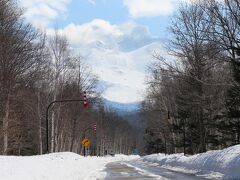
[(105, 171), (107, 175), (104, 180), (195, 180), (205, 179), (204, 177), (197, 177), (194, 174), (185, 174), (167, 170), (156, 165), (144, 162), (142, 160), (129, 162), (115, 162), (109, 163)]

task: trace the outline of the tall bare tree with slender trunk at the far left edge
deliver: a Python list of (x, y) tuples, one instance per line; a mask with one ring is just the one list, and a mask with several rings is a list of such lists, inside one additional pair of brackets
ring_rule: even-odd
[(22, 12), (14, 0), (0, 1), (0, 84), (3, 94), (3, 153), (8, 151), (8, 126), (11, 96), (18, 81), (33, 74), (41, 64), (38, 61), (38, 34), (21, 19)]

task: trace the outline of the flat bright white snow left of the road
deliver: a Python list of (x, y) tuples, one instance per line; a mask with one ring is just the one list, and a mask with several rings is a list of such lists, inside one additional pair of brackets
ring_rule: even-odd
[(109, 162), (127, 161), (139, 156), (82, 157), (65, 152), (41, 156), (0, 156), (1, 180), (96, 180), (106, 174)]

